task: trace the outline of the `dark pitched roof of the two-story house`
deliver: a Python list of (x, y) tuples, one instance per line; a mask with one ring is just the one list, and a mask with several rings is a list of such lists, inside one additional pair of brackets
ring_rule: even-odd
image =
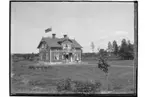
[(62, 43), (63, 41), (65, 41), (66, 39), (70, 40), (72, 42), (72, 47), (75, 47), (75, 48), (82, 48), (82, 46), (74, 39), (69, 39), (69, 38), (51, 38), (51, 37), (42, 37), (39, 45), (37, 48), (40, 47), (40, 44), (42, 42), (46, 42), (47, 45), (49, 47), (62, 47), (60, 43)]

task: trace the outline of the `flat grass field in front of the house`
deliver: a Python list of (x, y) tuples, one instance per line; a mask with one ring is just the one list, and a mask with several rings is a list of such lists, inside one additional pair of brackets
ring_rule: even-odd
[(132, 60), (110, 61), (109, 81), (98, 69), (95, 61), (88, 65), (49, 66), (47, 69), (30, 69), (33, 61), (12, 63), (11, 93), (58, 93), (56, 86), (61, 79), (70, 78), (78, 81), (100, 82), (101, 91), (109, 87), (114, 93), (131, 92), (135, 88), (135, 75)]

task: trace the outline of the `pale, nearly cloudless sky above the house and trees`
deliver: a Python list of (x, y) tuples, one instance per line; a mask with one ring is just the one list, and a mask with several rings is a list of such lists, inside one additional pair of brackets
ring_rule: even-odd
[[(45, 29), (52, 31), (45, 33)], [(131, 2), (12, 2), (11, 52), (37, 53), (42, 37), (75, 39), (83, 52), (91, 42), (106, 49), (108, 42), (123, 38), (134, 42), (134, 4)]]

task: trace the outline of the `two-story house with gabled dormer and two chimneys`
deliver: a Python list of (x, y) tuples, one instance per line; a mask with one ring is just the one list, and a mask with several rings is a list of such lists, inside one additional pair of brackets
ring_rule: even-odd
[(42, 37), (38, 47), (40, 61), (44, 62), (78, 62), (81, 61), (82, 46), (75, 40), (69, 39), (67, 35), (57, 38)]

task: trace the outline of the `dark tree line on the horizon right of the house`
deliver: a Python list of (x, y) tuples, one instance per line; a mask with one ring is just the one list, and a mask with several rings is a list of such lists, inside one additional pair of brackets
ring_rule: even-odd
[[(94, 50), (94, 44), (91, 45)], [(99, 53), (83, 53), (82, 58), (98, 58), (100, 55), (108, 56), (109, 60), (133, 60), (134, 59), (134, 44), (130, 40), (122, 39), (121, 44), (118, 45), (114, 40), (112, 43), (108, 42), (108, 48), (98, 49)]]

